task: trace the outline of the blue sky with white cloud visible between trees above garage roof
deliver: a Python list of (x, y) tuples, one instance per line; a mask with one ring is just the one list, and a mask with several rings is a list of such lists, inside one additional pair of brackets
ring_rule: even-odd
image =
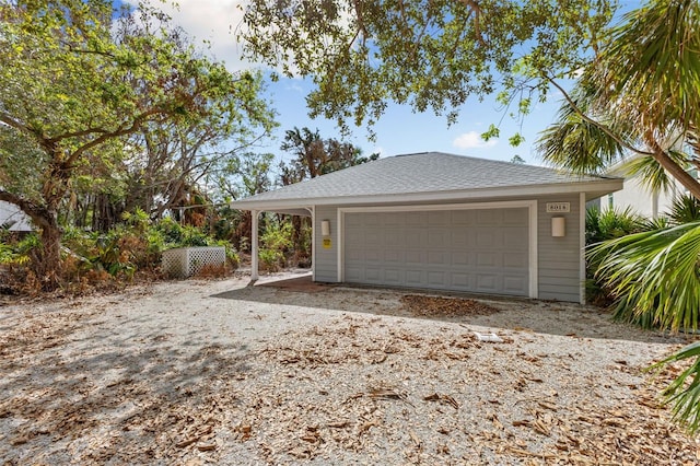
[[(241, 23), (241, 0), (179, 0), (178, 9), (160, 0), (150, 0), (173, 16), (174, 23), (182, 26), (194, 38), (210, 43), (210, 53), (214, 59), (224, 61), (232, 70), (250, 68), (250, 63), (241, 61), (241, 47), (235, 43), (235, 28)], [(245, 0), (243, 0), (245, 1)], [(118, 3), (116, 0), (115, 3)], [(639, 1), (620, 1), (622, 10), (638, 8)], [(280, 79), (269, 82), (266, 91), (277, 109), (280, 127), (276, 138), (267, 141), (259, 150), (275, 153), (278, 159), (288, 155), (279, 150), (284, 131), (293, 127), (318, 128), (323, 138), (340, 138), (334, 121), (311, 119), (306, 109), (305, 96), (312, 86), (300, 79)], [(416, 114), (408, 106), (390, 104), (385, 115), (374, 126), (376, 140), (368, 139), (365, 128), (355, 128), (346, 140), (362, 148), (365, 154), (380, 152), (382, 156), (411, 152), (441, 151), (455, 154), (509, 161), (520, 155), (529, 164), (541, 164), (534, 145), (538, 133), (549, 126), (559, 108), (559, 96), (552, 94), (548, 102), (538, 104), (520, 127), (517, 121), (504, 116), (495, 100), (467, 102), (460, 109), (456, 124), (448, 127), (444, 117), (432, 113)], [(479, 138), (491, 124), (499, 124), (501, 138), (485, 142)], [(508, 138), (521, 132), (525, 142), (517, 148), (509, 144)]]

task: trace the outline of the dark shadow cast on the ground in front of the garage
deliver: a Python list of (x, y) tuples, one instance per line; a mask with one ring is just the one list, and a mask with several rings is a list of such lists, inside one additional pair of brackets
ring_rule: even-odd
[[(470, 300), (494, 307), (497, 312), (479, 314), (454, 308), (441, 312), (439, 305), (422, 312), (406, 305), (406, 296), (434, 296), (435, 301)], [(358, 312), (374, 315), (425, 318), (488, 327), (578, 338), (616, 339), (643, 342), (684, 342), (682, 335), (641, 330), (628, 324), (615, 323), (605, 310), (575, 303), (520, 298), (490, 296), (467, 293), (444, 293), (430, 290), (400, 290), (313, 282), (311, 276), (250, 283), (245, 288), (218, 293), (211, 298), (248, 301), (264, 304), (292, 305), (312, 308)], [(454, 306), (451, 306), (454, 307)]]

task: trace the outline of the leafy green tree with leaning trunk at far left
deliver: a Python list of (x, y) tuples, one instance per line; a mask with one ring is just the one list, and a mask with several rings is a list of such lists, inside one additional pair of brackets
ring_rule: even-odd
[(257, 79), (182, 47), (168, 19), (143, 4), (18, 0), (0, 4), (0, 200), (40, 230), (47, 288), (60, 278), (61, 201), (81, 167), (120, 156), (105, 144), (212, 107), (244, 118), (241, 101), (260, 105)]

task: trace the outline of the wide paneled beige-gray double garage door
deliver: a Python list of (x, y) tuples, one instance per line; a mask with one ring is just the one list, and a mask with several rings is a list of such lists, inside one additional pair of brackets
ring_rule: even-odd
[(345, 214), (345, 280), (528, 295), (527, 208)]

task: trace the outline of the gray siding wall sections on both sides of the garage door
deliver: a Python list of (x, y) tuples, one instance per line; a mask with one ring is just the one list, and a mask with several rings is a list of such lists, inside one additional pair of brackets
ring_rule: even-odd
[[(493, 199), (498, 200), (498, 199)], [(567, 213), (547, 213), (547, 202), (570, 202)], [(538, 294), (542, 300), (579, 302), (581, 299), (580, 279), (580, 205), (579, 194), (558, 195), (537, 198), (538, 223)], [(564, 237), (551, 236), (551, 218), (564, 217), (567, 234)], [(320, 235), (320, 222), (330, 222), (330, 247), (324, 247)], [(314, 247), (315, 280), (336, 282), (338, 279), (338, 209), (317, 206), (315, 214), (316, 237)]]

